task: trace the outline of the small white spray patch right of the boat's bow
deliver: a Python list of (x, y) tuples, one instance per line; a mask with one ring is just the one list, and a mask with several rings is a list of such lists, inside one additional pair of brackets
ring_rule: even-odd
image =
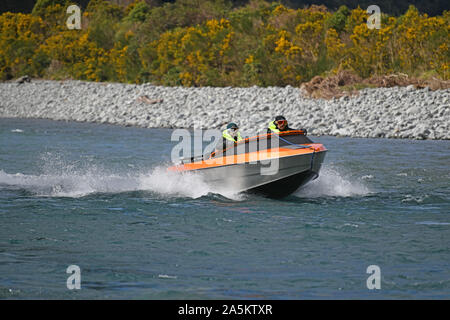
[(319, 177), (300, 188), (294, 195), (301, 198), (352, 197), (370, 194), (369, 188), (361, 181), (339, 172), (339, 169), (324, 166)]

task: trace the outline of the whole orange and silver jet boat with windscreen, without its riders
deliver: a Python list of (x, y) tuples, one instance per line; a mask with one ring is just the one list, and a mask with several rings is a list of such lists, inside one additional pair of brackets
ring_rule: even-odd
[(209, 155), (182, 159), (169, 171), (198, 173), (220, 190), (282, 198), (319, 176), (327, 149), (304, 130), (261, 134)]

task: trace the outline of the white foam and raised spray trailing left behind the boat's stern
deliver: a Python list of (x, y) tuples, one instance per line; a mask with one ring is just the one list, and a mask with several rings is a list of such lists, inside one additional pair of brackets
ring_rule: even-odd
[[(198, 198), (214, 192), (200, 176), (154, 168), (110, 169), (91, 158), (67, 160), (67, 155), (44, 152), (38, 174), (7, 173), (0, 169), (0, 189), (22, 189), (37, 196), (82, 197), (93, 193), (151, 191), (163, 196)], [(223, 194), (232, 196), (232, 194)]]

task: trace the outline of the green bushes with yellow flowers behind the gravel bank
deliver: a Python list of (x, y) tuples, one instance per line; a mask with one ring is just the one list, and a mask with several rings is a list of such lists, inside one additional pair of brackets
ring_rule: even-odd
[(21, 75), (184, 86), (299, 86), (348, 70), (450, 79), (450, 12), (410, 6), (381, 28), (366, 8), (292, 9), (252, 0), (177, 0), (120, 6), (91, 0), (82, 29), (66, 26), (69, 0), (39, 0), (0, 16), (0, 79)]

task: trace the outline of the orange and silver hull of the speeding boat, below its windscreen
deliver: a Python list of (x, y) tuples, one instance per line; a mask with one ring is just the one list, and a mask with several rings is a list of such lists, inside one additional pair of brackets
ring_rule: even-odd
[(326, 149), (322, 144), (286, 145), (184, 163), (171, 171), (199, 174), (218, 192), (249, 192), (282, 198), (318, 177)]

